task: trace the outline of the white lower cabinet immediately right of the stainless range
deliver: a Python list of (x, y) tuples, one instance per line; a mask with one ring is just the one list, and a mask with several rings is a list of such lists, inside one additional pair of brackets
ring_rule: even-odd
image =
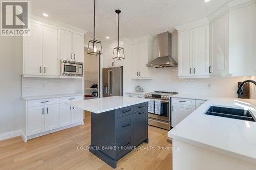
[(172, 98), (172, 127), (178, 125), (190, 113), (201, 106), (205, 100)]

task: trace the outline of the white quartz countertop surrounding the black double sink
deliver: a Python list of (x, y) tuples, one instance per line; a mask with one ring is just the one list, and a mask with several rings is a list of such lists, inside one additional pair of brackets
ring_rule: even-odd
[[(189, 95), (188, 95), (189, 96)], [(206, 115), (210, 106), (251, 110), (255, 100), (238, 98), (193, 98), (207, 101), (168, 132), (168, 137), (256, 164), (256, 123)], [(177, 98), (182, 95), (177, 95)]]

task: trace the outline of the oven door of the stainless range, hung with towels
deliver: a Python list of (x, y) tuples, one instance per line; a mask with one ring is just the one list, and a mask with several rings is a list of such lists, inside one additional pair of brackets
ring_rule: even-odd
[(160, 114), (148, 113), (148, 117), (170, 122), (170, 101), (154, 99), (154, 104), (156, 101), (160, 102)]

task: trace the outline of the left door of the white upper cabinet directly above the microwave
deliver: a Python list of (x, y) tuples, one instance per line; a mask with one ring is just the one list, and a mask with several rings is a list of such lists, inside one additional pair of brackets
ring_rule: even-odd
[(72, 33), (60, 29), (60, 59), (72, 60)]

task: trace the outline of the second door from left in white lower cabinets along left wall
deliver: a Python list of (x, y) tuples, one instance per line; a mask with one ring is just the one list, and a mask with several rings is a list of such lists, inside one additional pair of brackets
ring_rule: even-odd
[(45, 131), (59, 127), (59, 104), (45, 106)]

